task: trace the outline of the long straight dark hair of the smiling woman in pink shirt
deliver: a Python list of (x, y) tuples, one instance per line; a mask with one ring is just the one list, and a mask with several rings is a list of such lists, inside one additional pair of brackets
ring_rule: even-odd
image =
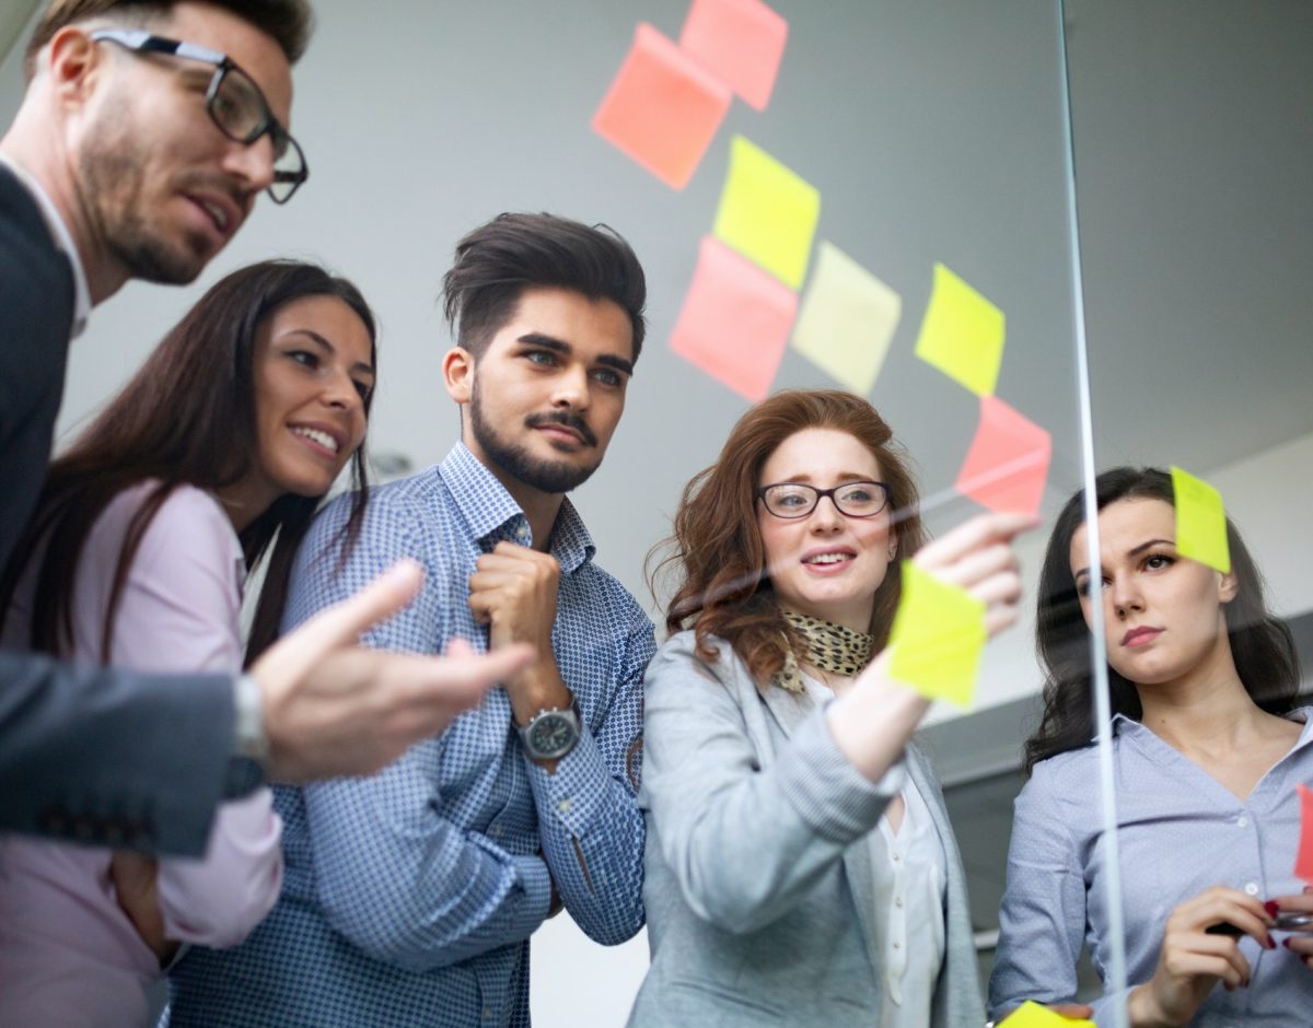
[[(37, 515), (0, 582), (0, 617), (33, 554), (42, 551), (32, 604), (30, 646), (63, 654), (72, 645), (72, 591), (87, 538), (113, 499), (156, 481), (129, 523), (114, 571), (101, 659), (110, 660), (118, 601), (151, 520), (181, 484), (219, 490), (240, 481), (257, 453), (253, 352), (256, 332), (276, 310), (305, 297), (336, 297), (369, 332), (377, 368), (374, 315), (345, 278), (302, 261), (252, 264), (214, 285), (179, 322), (92, 424), (50, 467)], [(370, 398), (365, 398), (368, 416)], [(368, 500), (365, 446), (352, 457), (351, 519), (343, 555), (360, 533)], [(239, 534), (247, 568), (269, 554), (247, 662), (278, 634), (288, 576), (319, 496), (285, 494)]]

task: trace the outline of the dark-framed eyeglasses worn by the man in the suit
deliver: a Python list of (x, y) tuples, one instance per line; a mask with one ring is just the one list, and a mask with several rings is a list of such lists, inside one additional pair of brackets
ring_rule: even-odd
[(205, 109), (210, 119), (228, 139), (251, 146), (265, 133), (273, 142), (273, 182), (269, 196), (286, 203), (301, 184), (310, 177), (306, 155), (297, 140), (278, 123), (260, 87), (226, 54), (196, 43), (183, 43), (151, 35), (140, 29), (97, 29), (95, 42), (118, 43), (135, 54), (165, 54), (214, 66), (214, 75), (205, 91)]

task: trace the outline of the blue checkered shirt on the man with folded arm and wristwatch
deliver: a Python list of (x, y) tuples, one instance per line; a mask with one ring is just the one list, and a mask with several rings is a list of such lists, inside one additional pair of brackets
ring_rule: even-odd
[[(463, 444), (374, 490), (339, 574), (348, 515), (339, 499), (311, 529), (288, 625), (412, 557), (424, 563), (423, 592), (369, 645), (440, 653), (461, 637), (486, 647), (466, 603), (474, 563), (502, 540), (532, 540), (519, 505)], [(548, 914), (551, 880), (592, 939), (621, 943), (642, 927), (634, 777), (653, 626), (593, 551), (567, 500), (551, 534), (561, 563), (551, 643), (584, 727), (555, 773), (524, 756), (509, 700), (494, 689), (373, 777), (278, 788), (278, 905), (243, 945), (194, 949), (175, 968), (175, 1028), (528, 1025), (528, 939)]]

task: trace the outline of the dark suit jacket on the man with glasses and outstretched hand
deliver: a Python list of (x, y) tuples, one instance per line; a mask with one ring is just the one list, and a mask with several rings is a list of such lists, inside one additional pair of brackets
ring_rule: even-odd
[[(0, 567), (32, 516), (64, 387), (74, 280), (0, 164)], [(232, 680), (0, 651), (0, 830), (200, 855), (228, 773)]]

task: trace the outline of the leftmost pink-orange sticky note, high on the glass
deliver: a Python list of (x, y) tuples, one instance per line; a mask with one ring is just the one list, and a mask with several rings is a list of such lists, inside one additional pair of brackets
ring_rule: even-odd
[(683, 189), (730, 108), (730, 88), (651, 25), (634, 45), (592, 127), (674, 189)]

